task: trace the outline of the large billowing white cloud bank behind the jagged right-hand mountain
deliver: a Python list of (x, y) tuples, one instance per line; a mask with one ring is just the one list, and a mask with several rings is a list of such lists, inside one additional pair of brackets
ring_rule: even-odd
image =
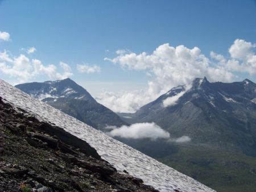
[[(231, 82), (236, 77), (234, 72), (255, 74), (254, 48), (255, 44), (237, 39), (229, 48), (230, 57), (214, 52), (210, 52), (210, 57), (207, 57), (198, 47), (172, 47), (168, 43), (160, 45), (151, 54), (118, 50), (116, 57), (105, 60), (119, 64), (123, 69), (145, 72), (149, 78), (148, 87), (129, 93), (104, 93), (97, 101), (114, 111), (134, 112), (172, 87), (190, 84), (196, 77), (205, 76), (212, 82)], [(171, 98), (168, 101), (172, 103)]]

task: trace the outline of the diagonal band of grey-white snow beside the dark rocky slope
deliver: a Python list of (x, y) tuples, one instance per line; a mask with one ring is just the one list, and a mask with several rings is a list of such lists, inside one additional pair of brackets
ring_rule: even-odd
[(137, 150), (112, 139), (104, 133), (56, 110), (38, 99), (0, 80), (0, 97), (15, 107), (31, 112), (40, 120), (55, 123), (67, 132), (85, 140), (117, 170), (127, 170), (141, 178), (147, 185), (160, 191), (214, 191), (202, 183), (144, 155)]

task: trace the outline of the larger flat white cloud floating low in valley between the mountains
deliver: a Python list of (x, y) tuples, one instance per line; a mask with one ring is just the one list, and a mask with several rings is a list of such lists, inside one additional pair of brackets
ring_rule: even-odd
[(135, 123), (131, 124), (131, 126), (122, 126), (114, 128), (114, 130), (108, 132), (108, 134), (112, 137), (118, 136), (131, 139), (150, 138), (155, 140), (158, 138), (170, 138), (170, 133), (162, 130), (162, 128), (155, 123)]

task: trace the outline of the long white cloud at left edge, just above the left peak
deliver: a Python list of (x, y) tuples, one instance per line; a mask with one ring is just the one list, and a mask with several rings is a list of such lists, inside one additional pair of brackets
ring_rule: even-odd
[(64, 73), (57, 73), (55, 65), (43, 65), (38, 59), (29, 59), (23, 54), (10, 55), (6, 50), (0, 52), (0, 72), (18, 79), (19, 83), (27, 82), (32, 77), (46, 75), (49, 78), (67, 78), (72, 76), (71, 68), (60, 63)]

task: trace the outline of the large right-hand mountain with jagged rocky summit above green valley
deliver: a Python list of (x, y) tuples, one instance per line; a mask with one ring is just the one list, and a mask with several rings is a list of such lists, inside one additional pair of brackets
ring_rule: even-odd
[[(184, 93), (184, 94), (180, 94)], [(181, 95), (169, 106), (167, 99)], [(241, 151), (256, 156), (256, 84), (210, 83), (196, 78), (192, 87), (178, 86), (133, 114), (133, 122), (155, 122), (174, 137), (191, 143)], [(130, 120), (130, 119), (129, 119)]]

